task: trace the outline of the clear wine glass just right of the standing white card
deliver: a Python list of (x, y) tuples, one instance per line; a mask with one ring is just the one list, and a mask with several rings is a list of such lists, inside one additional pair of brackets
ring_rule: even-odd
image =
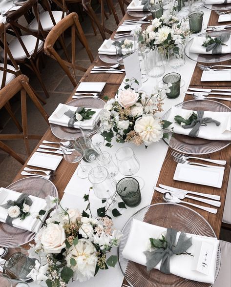
[(150, 78), (156, 79), (156, 86), (158, 87), (158, 78), (165, 73), (165, 66), (162, 59), (163, 47), (155, 47), (147, 53), (147, 75)]

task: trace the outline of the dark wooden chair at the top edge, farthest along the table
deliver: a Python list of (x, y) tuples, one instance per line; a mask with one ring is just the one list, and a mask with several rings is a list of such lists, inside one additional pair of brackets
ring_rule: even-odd
[[(118, 25), (120, 21), (118, 19), (115, 7), (113, 5), (113, 1), (112, 0), (106, 0), (106, 1), (107, 1), (107, 4), (108, 4), (108, 7), (111, 9), (111, 11), (112, 11), (112, 13), (114, 15), (116, 24)], [(125, 11), (124, 11), (124, 6), (123, 6), (123, 3), (122, 3), (122, 0), (118, 0), (118, 1), (119, 1), (119, 3), (121, 2), (120, 3), (121, 9), (123, 8), (122, 13), (123, 13), (123, 15), (125, 15)], [(101, 3), (101, 22), (98, 20), (98, 17), (97, 17), (95, 11), (93, 10), (93, 8), (91, 6), (91, 0), (82, 0), (82, 5), (84, 7), (84, 11), (87, 13), (87, 15), (89, 16), (91, 21), (93, 21), (93, 23), (96, 24), (96, 26), (98, 27), (98, 29), (100, 31), (100, 34), (101, 34), (103, 40), (105, 40), (106, 39), (106, 34), (105, 33), (108, 33), (109, 35), (111, 35), (113, 33), (113, 31), (108, 29), (107, 27), (105, 27), (104, 0), (101, 0), (100, 3)]]

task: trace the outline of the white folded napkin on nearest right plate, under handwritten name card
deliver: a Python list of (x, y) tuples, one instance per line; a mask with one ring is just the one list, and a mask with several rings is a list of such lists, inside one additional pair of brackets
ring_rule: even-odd
[[(151, 225), (136, 219), (132, 220), (131, 230), (126, 242), (126, 246), (123, 250), (123, 257), (134, 261), (138, 264), (146, 266), (146, 256), (144, 251), (147, 251), (147, 243), (149, 238), (159, 238), (162, 232), (167, 231), (166, 228), (156, 225)], [(219, 240), (207, 236), (199, 236), (194, 234), (187, 234), (187, 237), (192, 237), (192, 246), (189, 247), (187, 252), (194, 255), (172, 255), (170, 257), (170, 273), (176, 276), (180, 276), (189, 280), (214, 283), (215, 267), (217, 259), (217, 251), (219, 246)], [(178, 240), (180, 232), (177, 233), (176, 241)], [(196, 254), (200, 250), (201, 242), (210, 244), (212, 249), (210, 268), (208, 274), (203, 274), (194, 269), (194, 261), (196, 260)], [(160, 270), (161, 262), (155, 267)], [(166, 275), (168, 276), (168, 275)]]

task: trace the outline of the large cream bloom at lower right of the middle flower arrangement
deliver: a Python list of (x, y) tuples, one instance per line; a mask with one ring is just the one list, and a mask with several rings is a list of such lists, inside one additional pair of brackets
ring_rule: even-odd
[(154, 119), (151, 115), (140, 118), (136, 122), (134, 130), (141, 136), (146, 145), (158, 142), (163, 137), (160, 122), (157, 119)]

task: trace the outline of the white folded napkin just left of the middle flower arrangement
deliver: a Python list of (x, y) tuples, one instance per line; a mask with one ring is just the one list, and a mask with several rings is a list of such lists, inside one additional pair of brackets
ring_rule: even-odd
[[(49, 117), (48, 121), (49, 121), (49, 123), (55, 123), (55, 124), (59, 124), (59, 125), (63, 125), (63, 126), (68, 126), (68, 122), (69, 122), (70, 118), (68, 116), (64, 115), (64, 113), (67, 112), (68, 110), (75, 112), (76, 109), (77, 109), (76, 106), (70, 106), (70, 105), (66, 105), (63, 103), (59, 103), (59, 105), (57, 106), (55, 111)], [(102, 109), (91, 108), (91, 110), (95, 111), (95, 113), (92, 115), (91, 119), (75, 122), (74, 123), (75, 128), (79, 128), (80, 124), (81, 124), (81, 126), (84, 129), (93, 129), (95, 123), (94, 123), (94, 121), (92, 121), (92, 119), (95, 120), (97, 123), (100, 119), (100, 112)]]

